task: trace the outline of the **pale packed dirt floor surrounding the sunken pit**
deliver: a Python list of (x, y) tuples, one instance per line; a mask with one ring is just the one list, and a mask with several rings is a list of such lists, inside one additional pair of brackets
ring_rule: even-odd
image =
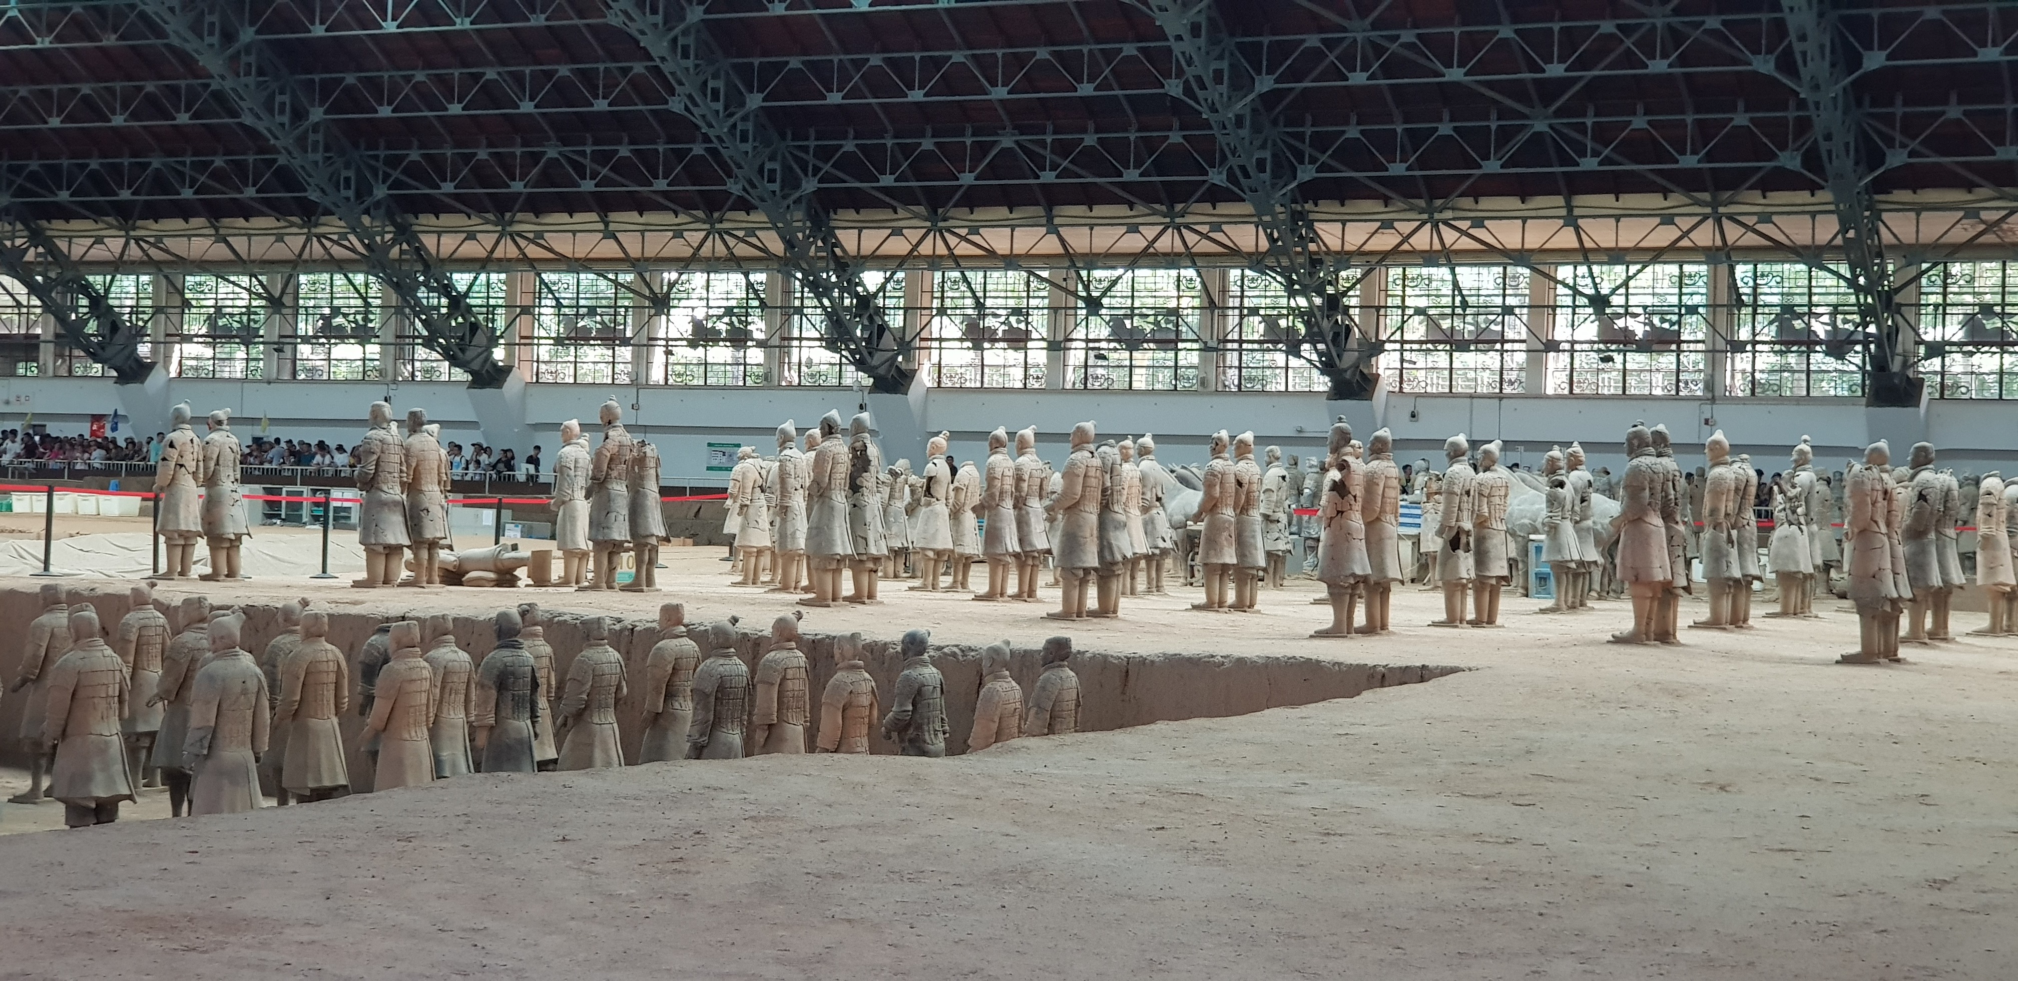
[[(349, 591), (355, 610), (767, 624), (718, 549), (660, 595)], [(981, 571), (977, 569), (977, 577)], [(250, 597), (301, 581), (250, 581)], [(30, 587), (26, 579), (0, 583)], [(121, 583), (97, 583), (113, 587)], [(180, 595), (182, 587), (163, 587)], [(220, 595), (222, 589), (208, 589)], [(1304, 706), (948, 759), (761, 757), (476, 775), (329, 803), (0, 838), (10, 977), (2018, 977), (2018, 638), (1836, 666), (1855, 618), (1612, 646), (1620, 602), (1501, 630), (1310, 640), (1251, 616), (1120, 624), (886, 585), (807, 632), (1072, 634), (1142, 656), (1477, 670)], [(220, 595), (222, 597), (222, 595)], [(1758, 604), (1756, 614), (1766, 614)], [(1701, 604), (1683, 618), (1701, 616)], [(1982, 614), (1957, 614), (1957, 630)], [(18, 624), (10, 624), (16, 626)], [(1235, 680), (1229, 678), (1229, 684)], [(12, 725), (12, 723), (10, 723)], [(159, 815), (147, 791), (135, 818)], [(44, 805), (0, 826), (50, 828)]]

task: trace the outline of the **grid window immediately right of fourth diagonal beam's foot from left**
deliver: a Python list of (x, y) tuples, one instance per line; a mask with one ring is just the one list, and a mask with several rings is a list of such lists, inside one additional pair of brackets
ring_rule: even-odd
[(1526, 392), (1528, 270), (1388, 268), (1382, 331), (1396, 392)]

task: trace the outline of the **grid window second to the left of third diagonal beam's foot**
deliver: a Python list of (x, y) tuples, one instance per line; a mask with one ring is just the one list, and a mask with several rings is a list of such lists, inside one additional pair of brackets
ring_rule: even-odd
[(654, 386), (763, 386), (765, 275), (666, 272)]

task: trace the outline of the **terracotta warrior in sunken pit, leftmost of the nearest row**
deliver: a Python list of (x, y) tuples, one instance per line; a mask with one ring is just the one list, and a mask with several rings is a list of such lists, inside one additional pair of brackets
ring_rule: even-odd
[(48, 670), (44, 735), (48, 755), (48, 795), (63, 801), (67, 828), (89, 828), (119, 820), (119, 803), (137, 793), (127, 769), (119, 723), (129, 715), (127, 666), (101, 638), (99, 614), (87, 604), (71, 612), (75, 640)]

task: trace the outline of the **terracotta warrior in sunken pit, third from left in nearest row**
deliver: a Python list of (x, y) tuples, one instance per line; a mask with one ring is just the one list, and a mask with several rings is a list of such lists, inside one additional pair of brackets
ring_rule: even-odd
[(343, 652), (329, 642), (329, 614), (301, 614), (299, 644), (281, 660), (281, 708), (272, 717), (272, 729), (287, 731), (281, 787), (299, 801), (325, 801), (351, 789), (337, 723), (351, 706), (347, 674)]

